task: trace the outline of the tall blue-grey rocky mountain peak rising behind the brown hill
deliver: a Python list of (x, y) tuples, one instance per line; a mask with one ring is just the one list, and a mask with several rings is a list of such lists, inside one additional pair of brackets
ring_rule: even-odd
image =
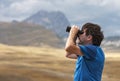
[(41, 10), (30, 17), (24, 19), (22, 22), (29, 22), (40, 24), (54, 31), (59, 37), (66, 37), (66, 27), (70, 25), (69, 20), (66, 18), (64, 13), (60, 11), (47, 12)]

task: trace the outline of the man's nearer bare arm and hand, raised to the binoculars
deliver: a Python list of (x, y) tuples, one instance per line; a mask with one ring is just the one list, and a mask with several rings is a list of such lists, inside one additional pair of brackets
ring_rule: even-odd
[(83, 55), (80, 48), (76, 45), (76, 36), (77, 36), (78, 30), (79, 28), (77, 26), (73, 26), (70, 30), (70, 33), (65, 45), (65, 50), (69, 54)]

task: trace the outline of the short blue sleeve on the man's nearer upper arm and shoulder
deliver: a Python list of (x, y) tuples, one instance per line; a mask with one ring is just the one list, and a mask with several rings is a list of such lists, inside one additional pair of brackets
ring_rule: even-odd
[(80, 45), (80, 50), (83, 52), (83, 57), (86, 59), (94, 59), (97, 53), (97, 46), (94, 45)]

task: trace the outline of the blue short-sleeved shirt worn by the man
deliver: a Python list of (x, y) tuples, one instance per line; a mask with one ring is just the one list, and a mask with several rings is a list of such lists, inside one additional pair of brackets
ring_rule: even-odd
[(83, 56), (78, 56), (74, 81), (101, 81), (104, 53), (99, 46), (80, 45)]

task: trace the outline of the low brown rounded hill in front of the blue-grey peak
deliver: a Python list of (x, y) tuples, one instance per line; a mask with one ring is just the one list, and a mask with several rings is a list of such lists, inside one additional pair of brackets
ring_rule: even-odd
[(0, 43), (22, 46), (63, 47), (63, 41), (43, 26), (21, 23), (0, 22)]

